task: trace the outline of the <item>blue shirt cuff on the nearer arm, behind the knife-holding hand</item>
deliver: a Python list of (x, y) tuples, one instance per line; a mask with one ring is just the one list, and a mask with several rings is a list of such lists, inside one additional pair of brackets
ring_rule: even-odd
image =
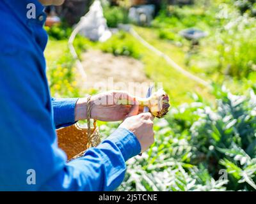
[(122, 152), (124, 160), (127, 161), (141, 152), (141, 145), (134, 133), (125, 128), (118, 128), (106, 140), (115, 143)]

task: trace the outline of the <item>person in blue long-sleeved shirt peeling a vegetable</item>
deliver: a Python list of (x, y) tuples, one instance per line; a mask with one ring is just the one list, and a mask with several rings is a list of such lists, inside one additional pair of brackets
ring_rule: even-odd
[[(124, 179), (125, 161), (154, 142), (152, 115), (138, 114), (138, 105), (116, 103), (120, 98), (134, 100), (129, 94), (107, 92), (92, 97), (92, 118), (124, 122), (97, 148), (66, 163), (67, 156), (57, 146), (56, 128), (86, 119), (86, 98), (53, 99), (49, 94), (42, 4), (60, 3), (0, 1), (2, 191), (111, 191)], [(28, 13), (34, 6), (35, 16)], [(114, 98), (112, 104), (95, 103), (109, 97)], [(34, 182), (28, 182), (31, 172)]]

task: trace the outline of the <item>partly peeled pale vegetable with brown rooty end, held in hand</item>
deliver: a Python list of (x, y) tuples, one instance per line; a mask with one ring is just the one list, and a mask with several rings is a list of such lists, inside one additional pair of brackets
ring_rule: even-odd
[(161, 118), (168, 113), (169, 97), (163, 89), (152, 93), (149, 98), (137, 98), (140, 106), (147, 106), (150, 113), (155, 117)]

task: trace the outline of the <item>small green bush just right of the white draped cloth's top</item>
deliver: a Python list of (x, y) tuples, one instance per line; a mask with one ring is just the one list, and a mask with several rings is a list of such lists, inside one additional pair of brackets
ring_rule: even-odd
[(103, 6), (104, 17), (109, 27), (117, 27), (118, 24), (127, 24), (129, 22), (128, 11), (118, 6)]

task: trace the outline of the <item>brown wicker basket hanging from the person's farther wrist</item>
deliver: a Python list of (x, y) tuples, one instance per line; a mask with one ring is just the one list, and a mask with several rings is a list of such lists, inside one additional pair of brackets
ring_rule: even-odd
[(100, 143), (99, 129), (96, 121), (93, 121), (93, 128), (81, 128), (78, 124), (60, 128), (56, 130), (58, 135), (58, 145), (66, 152), (68, 161), (83, 156), (84, 152), (90, 147), (96, 147)]

